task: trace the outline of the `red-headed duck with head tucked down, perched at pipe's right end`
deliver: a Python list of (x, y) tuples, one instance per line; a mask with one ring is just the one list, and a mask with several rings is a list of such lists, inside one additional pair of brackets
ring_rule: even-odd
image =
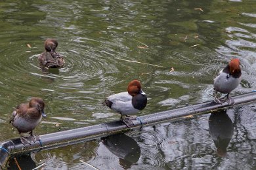
[[(229, 94), (238, 87), (241, 80), (240, 60), (238, 58), (232, 58), (228, 65), (214, 79), (213, 90), (215, 92), (215, 103), (223, 104), (226, 101), (229, 105), (234, 104), (234, 99), (229, 97)], [(218, 92), (226, 93), (226, 97), (219, 99)]]

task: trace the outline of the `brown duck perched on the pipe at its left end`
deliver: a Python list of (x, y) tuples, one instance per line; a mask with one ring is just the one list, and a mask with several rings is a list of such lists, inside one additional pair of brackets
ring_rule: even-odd
[[(41, 122), (41, 118), (46, 117), (44, 112), (45, 103), (43, 99), (39, 97), (32, 97), (29, 103), (22, 103), (16, 107), (12, 112), (12, 117), (9, 123), (12, 124), (20, 134), (20, 141), (25, 145), (33, 141), (35, 143), (36, 139), (33, 136), (33, 129)], [(28, 140), (28, 137), (24, 137), (22, 133), (28, 133), (32, 139)]]

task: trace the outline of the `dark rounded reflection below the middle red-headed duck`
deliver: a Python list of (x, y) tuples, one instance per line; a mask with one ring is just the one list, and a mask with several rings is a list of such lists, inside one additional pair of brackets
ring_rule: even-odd
[(124, 169), (130, 168), (140, 158), (139, 144), (124, 133), (104, 137), (102, 143), (119, 158), (119, 164)]

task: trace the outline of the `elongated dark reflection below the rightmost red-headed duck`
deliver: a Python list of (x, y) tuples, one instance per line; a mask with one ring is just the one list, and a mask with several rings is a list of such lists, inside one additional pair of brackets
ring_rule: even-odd
[(211, 113), (209, 117), (209, 132), (217, 148), (217, 155), (226, 156), (226, 148), (234, 133), (234, 125), (228, 114), (226, 114), (226, 110)]

